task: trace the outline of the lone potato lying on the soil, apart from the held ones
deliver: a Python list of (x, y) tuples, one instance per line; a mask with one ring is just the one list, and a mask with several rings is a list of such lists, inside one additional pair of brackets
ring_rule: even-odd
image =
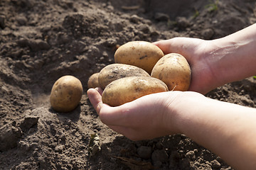
[(54, 111), (73, 111), (82, 97), (81, 81), (73, 76), (60, 77), (50, 92), (50, 105)]

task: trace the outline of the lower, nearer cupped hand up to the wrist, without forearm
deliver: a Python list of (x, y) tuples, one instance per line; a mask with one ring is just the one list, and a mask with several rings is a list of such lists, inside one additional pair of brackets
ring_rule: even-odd
[(99, 88), (87, 91), (100, 120), (131, 140), (149, 140), (181, 133), (176, 117), (180, 112), (187, 111), (184, 107), (188, 106), (186, 99), (195, 100), (197, 96), (205, 98), (196, 92), (169, 91), (142, 96), (122, 106), (111, 107), (102, 103), (101, 94), (102, 89)]

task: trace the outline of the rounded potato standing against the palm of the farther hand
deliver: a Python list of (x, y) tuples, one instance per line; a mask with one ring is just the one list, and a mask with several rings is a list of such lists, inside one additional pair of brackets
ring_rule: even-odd
[(170, 91), (187, 91), (191, 82), (191, 68), (185, 57), (171, 53), (156, 63), (151, 77), (164, 81)]

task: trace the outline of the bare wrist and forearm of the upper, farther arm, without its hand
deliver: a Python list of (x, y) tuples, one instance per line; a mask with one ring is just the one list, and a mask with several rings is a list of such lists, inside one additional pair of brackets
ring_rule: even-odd
[(248, 34), (253, 30), (245, 29), (212, 40), (213, 50), (208, 60), (213, 65), (214, 77), (219, 86), (245, 79), (256, 72), (256, 35)]

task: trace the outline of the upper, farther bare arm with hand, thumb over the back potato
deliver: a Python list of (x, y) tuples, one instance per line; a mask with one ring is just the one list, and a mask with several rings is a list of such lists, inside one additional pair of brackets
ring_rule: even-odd
[(172, 38), (154, 42), (164, 54), (176, 52), (192, 69), (190, 91), (206, 94), (218, 86), (256, 74), (256, 24), (217, 40)]

